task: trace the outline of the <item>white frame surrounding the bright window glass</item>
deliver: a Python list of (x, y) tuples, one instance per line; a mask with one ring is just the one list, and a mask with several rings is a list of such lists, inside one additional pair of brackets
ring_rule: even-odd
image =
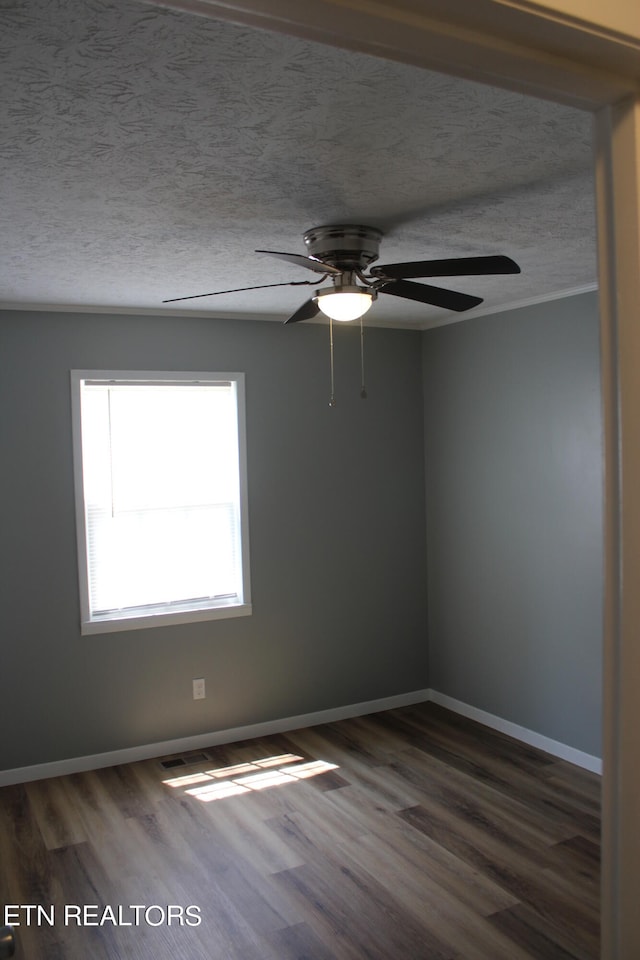
[[(149, 370), (71, 370), (71, 414), (73, 433), (73, 467), (76, 504), (76, 531), (78, 542), (78, 577), (80, 587), (81, 635), (113, 633), (120, 630), (139, 630), (169, 624), (193, 623), (202, 620), (219, 620), (229, 617), (248, 616), (252, 613), (249, 570), (249, 526), (247, 493), (247, 453), (245, 382), (243, 373), (211, 373), (194, 371), (149, 371)], [(238, 598), (208, 600), (180, 609), (154, 610), (149, 615), (139, 612), (110, 611), (108, 614), (92, 615), (89, 594), (89, 562), (87, 551), (87, 524), (85, 514), (83, 449), (82, 449), (82, 385), (85, 381), (170, 384), (170, 383), (220, 383), (234, 386), (238, 426), (238, 467), (240, 481), (240, 549), (242, 589)]]

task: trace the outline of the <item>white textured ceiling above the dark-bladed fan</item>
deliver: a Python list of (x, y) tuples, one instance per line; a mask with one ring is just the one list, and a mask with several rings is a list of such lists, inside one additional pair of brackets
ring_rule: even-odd
[[(284, 319), (323, 223), (380, 261), (504, 253), (520, 276), (434, 281), (469, 314), (596, 280), (591, 119), (415, 67), (135, 0), (3, 0), (4, 305)], [(381, 297), (368, 322), (458, 319)]]

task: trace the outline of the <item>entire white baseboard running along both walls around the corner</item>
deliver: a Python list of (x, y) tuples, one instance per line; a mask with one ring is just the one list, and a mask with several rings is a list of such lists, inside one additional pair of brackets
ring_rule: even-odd
[(101, 767), (112, 767), (118, 763), (134, 763), (136, 760), (150, 760), (167, 754), (184, 753), (189, 750), (204, 750), (221, 743), (236, 743), (238, 740), (250, 740), (254, 737), (268, 737), (274, 733), (286, 733), (288, 730), (298, 730), (301, 727), (313, 727), (320, 723), (334, 723), (337, 720), (348, 720), (351, 717), (362, 717), (368, 713), (379, 713), (382, 710), (393, 710), (396, 707), (408, 707), (415, 703), (424, 703), (432, 700), (434, 703), (454, 713), (459, 713), (470, 720), (491, 727), (505, 733), (515, 740), (527, 743), (550, 753), (554, 757), (568, 760), (576, 766), (591, 770), (593, 773), (602, 773), (602, 761), (588, 753), (568, 747), (557, 740), (543, 737), (533, 730), (520, 727), (509, 720), (503, 720), (477, 707), (471, 707), (460, 700), (454, 700), (437, 690), (414, 690), (411, 693), (401, 693), (393, 697), (383, 697), (380, 700), (366, 700), (362, 703), (347, 704), (343, 707), (334, 707), (331, 710), (318, 710), (315, 713), (302, 713), (295, 717), (283, 717), (278, 720), (267, 720), (264, 723), (251, 723), (241, 727), (231, 727), (226, 730), (216, 730), (212, 733), (201, 733), (193, 737), (180, 737), (177, 740), (164, 740), (160, 743), (147, 743), (139, 747), (126, 747), (123, 750), (111, 750), (107, 753), (96, 753), (85, 757), (71, 757), (68, 760), (54, 760), (51, 763), (38, 763), (29, 767), (16, 767), (13, 770), (0, 770), (0, 787), (14, 783), (28, 783), (31, 780), (46, 780), (49, 777), (61, 777), (69, 773), (80, 773), (83, 770), (98, 770)]

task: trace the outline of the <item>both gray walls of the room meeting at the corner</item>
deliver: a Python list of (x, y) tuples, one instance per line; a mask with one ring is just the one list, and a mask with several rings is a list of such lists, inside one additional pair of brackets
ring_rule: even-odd
[[(366, 401), (338, 328), (333, 410), (327, 339), (0, 314), (0, 769), (427, 686), (600, 754), (596, 296), (369, 330)], [(80, 636), (73, 368), (245, 371), (252, 617)]]

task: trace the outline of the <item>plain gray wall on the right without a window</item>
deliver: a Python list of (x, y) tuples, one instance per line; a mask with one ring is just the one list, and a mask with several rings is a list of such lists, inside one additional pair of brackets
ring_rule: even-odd
[(430, 684), (601, 753), (596, 294), (423, 339)]

